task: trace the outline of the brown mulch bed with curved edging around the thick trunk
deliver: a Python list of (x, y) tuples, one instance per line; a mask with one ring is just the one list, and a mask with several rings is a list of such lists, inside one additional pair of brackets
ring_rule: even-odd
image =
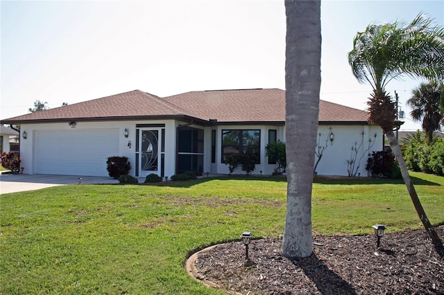
[[(443, 238), (444, 226), (436, 228)], [(424, 230), (315, 236), (313, 254), (289, 260), (282, 239), (253, 240), (250, 262), (241, 242), (197, 254), (195, 277), (232, 294), (444, 294), (444, 259)]]

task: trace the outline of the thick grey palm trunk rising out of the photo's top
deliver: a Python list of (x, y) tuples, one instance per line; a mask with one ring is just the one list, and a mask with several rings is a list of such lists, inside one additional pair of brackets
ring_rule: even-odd
[(311, 184), (321, 88), (321, 1), (285, 1), (287, 215), (282, 255), (312, 253)]

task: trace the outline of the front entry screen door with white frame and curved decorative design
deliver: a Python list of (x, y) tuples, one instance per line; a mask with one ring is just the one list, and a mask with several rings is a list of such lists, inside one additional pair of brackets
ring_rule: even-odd
[(139, 163), (141, 177), (146, 177), (151, 173), (160, 176), (160, 150), (159, 143), (162, 142), (160, 138), (160, 129), (141, 129), (139, 140)]

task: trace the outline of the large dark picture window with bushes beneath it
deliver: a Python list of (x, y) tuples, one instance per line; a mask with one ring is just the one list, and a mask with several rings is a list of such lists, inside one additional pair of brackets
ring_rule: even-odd
[(222, 163), (232, 154), (255, 154), (260, 163), (260, 130), (222, 130)]

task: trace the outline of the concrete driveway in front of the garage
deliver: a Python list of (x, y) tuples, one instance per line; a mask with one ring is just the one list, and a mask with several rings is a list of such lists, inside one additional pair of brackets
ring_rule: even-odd
[(0, 194), (23, 192), (25, 190), (39, 190), (50, 186), (67, 186), (77, 184), (118, 184), (117, 179), (110, 177), (73, 176), (73, 175), (12, 175), (0, 176)]

